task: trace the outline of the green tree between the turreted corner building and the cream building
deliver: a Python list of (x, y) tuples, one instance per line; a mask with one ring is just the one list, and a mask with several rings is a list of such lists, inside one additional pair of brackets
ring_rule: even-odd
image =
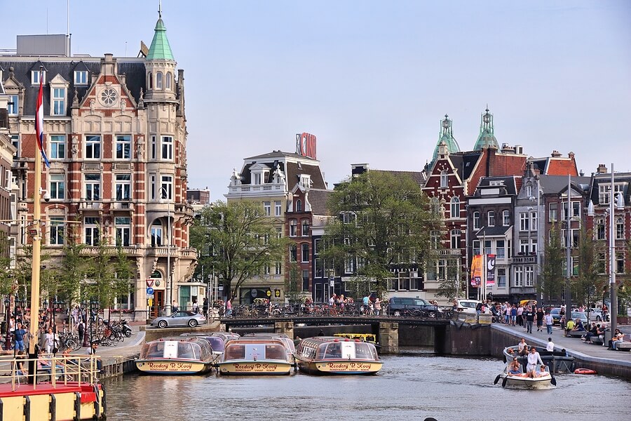
[(221, 279), (228, 300), (247, 279), (283, 260), (287, 239), (278, 236), (262, 203), (216, 201), (194, 222), (195, 245), (209, 250), (205, 264)]

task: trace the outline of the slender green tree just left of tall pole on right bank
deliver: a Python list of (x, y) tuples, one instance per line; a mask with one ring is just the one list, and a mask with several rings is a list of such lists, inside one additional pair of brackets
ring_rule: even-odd
[(546, 302), (561, 301), (565, 279), (563, 267), (565, 264), (565, 248), (561, 241), (559, 224), (552, 224), (550, 228), (550, 240), (543, 250), (543, 271), (541, 282), (537, 285), (538, 293), (543, 293)]

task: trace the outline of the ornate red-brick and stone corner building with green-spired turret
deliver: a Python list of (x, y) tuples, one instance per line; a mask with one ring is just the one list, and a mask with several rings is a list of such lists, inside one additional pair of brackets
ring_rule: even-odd
[[(136, 278), (133, 292), (117, 305), (140, 319), (151, 316), (147, 310), (157, 314), (179, 301), (179, 287), (196, 264), (196, 250), (189, 247), (193, 209), (186, 202), (184, 71), (176, 69), (161, 15), (150, 48), (138, 58), (70, 56), (69, 48), (20, 51), (21, 44), (50, 46), (38, 42), (41, 37), (32, 36), (30, 44), (18, 39), (16, 55), (0, 56), (8, 135), (16, 149), (17, 250), (31, 241), (25, 227), (34, 206), (41, 206), (48, 255), (58, 262), (71, 233), (86, 254), (95, 254), (101, 241), (120, 243), (135, 260)], [(41, 185), (50, 199), (37, 204), (40, 80), (50, 161)]]

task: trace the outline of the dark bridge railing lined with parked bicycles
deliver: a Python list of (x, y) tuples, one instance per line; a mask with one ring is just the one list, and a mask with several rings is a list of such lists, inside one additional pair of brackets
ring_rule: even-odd
[(236, 305), (231, 311), (219, 309), (220, 319), (257, 319), (260, 317), (374, 317), (384, 319), (452, 319), (453, 312), (450, 307), (437, 307), (437, 309), (418, 309), (413, 306), (397, 307), (397, 311), (389, 311), (388, 305), (381, 305), (381, 309), (375, 309), (373, 305), (362, 305), (360, 302), (346, 303), (344, 305), (329, 305), (325, 302), (313, 302), (311, 304), (285, 304), (285, 305)]

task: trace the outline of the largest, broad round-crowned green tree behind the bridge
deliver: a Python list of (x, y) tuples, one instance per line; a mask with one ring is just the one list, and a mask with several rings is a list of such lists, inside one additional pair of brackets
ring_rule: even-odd
[(435, 261), (431, 233), (442, 220), (409, 176), (369, 171), (349, 178), (337, 185), (329, 206), (339, 218), (327, 227), (323, 254), (338, 272), (356, 268), (353, 281), (366, 283), (365, 290), (383, 297), (391, 269), (422, 272)]

